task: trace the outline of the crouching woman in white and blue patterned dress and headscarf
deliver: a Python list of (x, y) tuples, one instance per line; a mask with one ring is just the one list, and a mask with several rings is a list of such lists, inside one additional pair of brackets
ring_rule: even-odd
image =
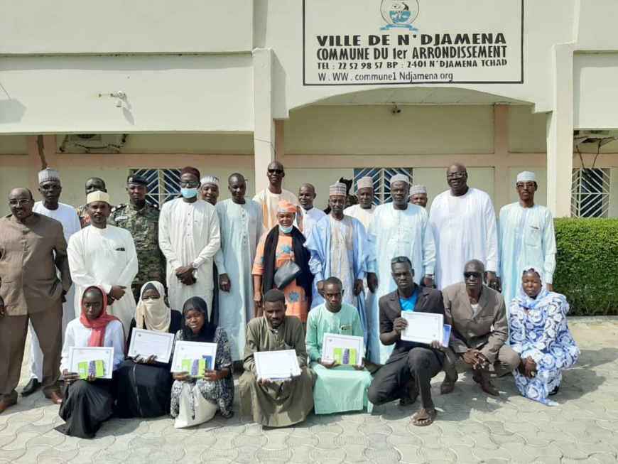
[(528, 266), (521, 276), (509, 316), (510, 345), (522, 360), (513, 371), (515, 383), (526, 398), (558, 406), (548, 396), (558, 393), (561, 370), (580, 355), (567, 324), (569, 305), (564, 295), (543, 286), (543, 271)]

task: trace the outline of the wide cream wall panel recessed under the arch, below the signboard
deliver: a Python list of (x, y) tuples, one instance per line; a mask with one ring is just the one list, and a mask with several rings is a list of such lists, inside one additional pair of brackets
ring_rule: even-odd
[[(492, 153), (493, 107), (315, 106), (285, 123), (290, 154)], [(357, 167), (363, 166), (360, 161)]]

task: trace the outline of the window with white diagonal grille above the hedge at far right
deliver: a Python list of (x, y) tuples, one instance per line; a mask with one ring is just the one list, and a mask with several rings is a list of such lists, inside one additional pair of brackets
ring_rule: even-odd
[(571, 216), (607, 217), (609, 213), (609, 169), (573, 169)]

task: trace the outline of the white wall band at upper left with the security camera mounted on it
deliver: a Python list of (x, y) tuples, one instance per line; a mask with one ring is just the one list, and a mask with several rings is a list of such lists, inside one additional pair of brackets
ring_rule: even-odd
[(0, 133), (254, 127), (250, 54), (3, 57), (0, 82)]

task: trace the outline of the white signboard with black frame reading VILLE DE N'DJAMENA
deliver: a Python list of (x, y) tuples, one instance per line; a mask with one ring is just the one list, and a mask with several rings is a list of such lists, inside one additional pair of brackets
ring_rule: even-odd
[(524, 0), (303, 0), (304, 85), (521, 84)]

